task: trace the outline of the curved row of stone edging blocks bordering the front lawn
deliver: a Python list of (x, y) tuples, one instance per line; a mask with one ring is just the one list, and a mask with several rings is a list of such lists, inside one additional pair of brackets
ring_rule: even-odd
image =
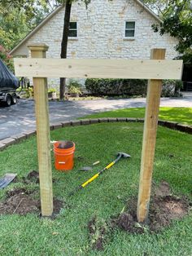
[[(59, 128), (68, 127), (68, 126), (87, 126), (96, 123), (104, 122), (144, 122), (144, 118), (129, 118), (129, 117), (103, 117), (103, 118), (94, 118), (94, 119), (79, 119), (72, 121), (61, 121), (50, 125), (50, 130), (57, 130)], [(158, 121), (159, 126), (165, 126), (172, 130), (180, 130), (182, 132), (192, 134), (192, 126), (180, 124), (175, 121)], [(13, 135), (10, 138), (0, 140), (0, 151), (7, 146), (10, 146), (15, 143), (19, 143), (23, 139), (28, 139), (30, 136), (36, 135), (36, 130), (27, 130), (21, 134)]]

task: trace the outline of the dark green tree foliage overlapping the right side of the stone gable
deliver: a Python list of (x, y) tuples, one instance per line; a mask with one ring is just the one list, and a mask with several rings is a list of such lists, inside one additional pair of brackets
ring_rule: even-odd
[(153, 24), (160, 35), (169, 33), (179, 40), (176, 50), (185, 61), (192, 61), (192, 11), (190, 0), (146, 0), (147, 5), (158, 11), (161, 24)]

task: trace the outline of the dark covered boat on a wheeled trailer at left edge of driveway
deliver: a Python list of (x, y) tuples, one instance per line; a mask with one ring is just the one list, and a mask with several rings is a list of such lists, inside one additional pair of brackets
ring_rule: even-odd
[(7, 106), (17, 103), (16, 89), (20, 86), (19, 79), (0, 60), (0, 102)]

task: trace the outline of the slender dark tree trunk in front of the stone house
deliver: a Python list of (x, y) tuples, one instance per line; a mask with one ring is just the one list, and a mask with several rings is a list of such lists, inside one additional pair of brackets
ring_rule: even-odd
[[(64, 14), (64, 25), (63, 25), (63, 38), (61, 42), (61, 59), (67, 59), (67, 50), (68, 50), (68, 30), (70, 24), (72, 2), (67, 0), (65, 3), (65, 14)], [(60, 78), (60, 96), (59, 99), (63, 99), (65, 93), (65, 82), (66, 78)]]

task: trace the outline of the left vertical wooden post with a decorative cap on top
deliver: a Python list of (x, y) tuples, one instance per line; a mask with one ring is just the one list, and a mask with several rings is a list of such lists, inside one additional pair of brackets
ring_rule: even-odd
[[(30, 45), (28, 48), (32, 58), (46, 58), (48, 46), (45, 44)], [(33, 89), (37, 125), (41, 214), (42, 216), (50, 216), (53, 213), (53, 192), (47, 79), (44, 77), (33, 78)]]

